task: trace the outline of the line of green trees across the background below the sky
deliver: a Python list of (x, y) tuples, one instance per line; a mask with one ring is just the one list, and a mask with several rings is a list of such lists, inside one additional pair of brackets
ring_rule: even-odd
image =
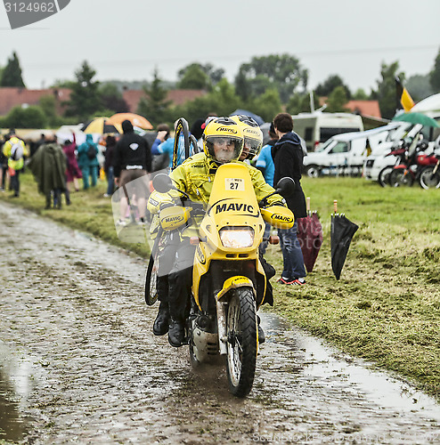
[[(122, 96), (126, 83), (118, 80), (99, 82), (96, 71), (87, 62), (75, 71), (73, 80), (56, 81), (52, 87), (71, 90), (69, 101), (63, 102), (64, 114), (56, 111), (56, 100), (52, 95), (43, 97), (38, 105), (26, 109), (15, 107), (7, 116), (0, 117), (0, 127), (45, 128), (60, 125), (75, 125), (96, 116), (110, 116), (126, 112), (128, 107)], [(314, 89), (314, 109), (320, 107), (320, 98), (326, 97), (326, 111), (346, 111), (346, 102), (354, 100), (378, 100), (382, 117), (395, 115), (395, 77), (399, 77), (415, 101), (440, 92), (440, 50), (433, 69), (426, 75), (416, 75), (405, 80), (399, 62), (389, 65), (382, 62), (377, 85), (366, 93), (363, 89), (352, 92), (338, 74), (330, 75)], [(17, 53), (12, 53), (4, 68), (0, 67), (0, 86), (26, 87)], [(212, 64), (191, 63), (180, 69), (177, 81), (169, 82), (154, 69), (151, 82), (137, 83), (143, 89), (143, 97), (136, 112), (147, 117), (151, 124), (172, 123), (178, 117), (190, 122), (206, 117), (212, 112), (228, 116), (235, 109), (249, 109), (270, 121), (281, 110), (291, 114), (310, 111), (308, 70), (297, 57), (289, 54), (271, 54), (253, 57), (240, 65), (240, 69), (229, 82), (224, 69)], [(206, 94), (174, 105), (167, 101), (170, 89), (204, 90)]]

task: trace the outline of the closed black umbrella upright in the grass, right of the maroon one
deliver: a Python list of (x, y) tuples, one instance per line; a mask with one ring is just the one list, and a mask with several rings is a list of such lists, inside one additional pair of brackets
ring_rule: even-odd
[(338, 202), (334, 201), (334, 214), (331, 215), (331, 269), (336, 279), (340, 278), (342, 268), (346, 262), (346, 254), (350, 247), (354, 233), (359, 226), (346, 218), (345, 214), (338, 214)]

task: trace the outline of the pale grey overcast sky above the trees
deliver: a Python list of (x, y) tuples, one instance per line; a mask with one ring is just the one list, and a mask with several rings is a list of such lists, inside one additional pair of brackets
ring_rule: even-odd
[(0, 65), (16, 51), (28, 88), (73, 79), (85, 60), (99, 80), (151, 80), (155, 66), (175, 80), (197, 61), (233, 81), (253, 56), (289, 53), (309, 88), (338, 74), (369, 93), (382, 61), (399, 61), (407, 77), (433, 68), (439, 17), (440, 0), (70, 0), (11, 30), (0, 3)]

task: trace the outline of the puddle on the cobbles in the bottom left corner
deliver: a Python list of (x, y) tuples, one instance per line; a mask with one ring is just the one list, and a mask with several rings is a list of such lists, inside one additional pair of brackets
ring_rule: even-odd
[(0, 344), (0, 441), (20, 441), (27, 432), (28, 419), (20, 404), (31, 391), (29, 360), (14, 360)]

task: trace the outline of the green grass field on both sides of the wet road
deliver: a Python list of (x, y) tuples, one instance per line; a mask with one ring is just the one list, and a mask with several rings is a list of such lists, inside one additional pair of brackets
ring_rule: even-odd
[[(73, 193), (73, 204), (61, 210), (43, 210), (45, 198), (29, 174), (21, 184), (20, 198), (7, 192), (0, 198), (148, 255), (145, 245), (118, 240), (103, 182)], [(440, 398), (440, 190), (382, 189), (361, 178), (305, 178), (302, 184), (321, 217), (322, 249), (305, 286), (273, 285), (273, 311)], [(359, 225), (340, 280), (330, 266), (334, 199)], [(282, 270), (279, 247), (269, 247), (267, 258)]]

